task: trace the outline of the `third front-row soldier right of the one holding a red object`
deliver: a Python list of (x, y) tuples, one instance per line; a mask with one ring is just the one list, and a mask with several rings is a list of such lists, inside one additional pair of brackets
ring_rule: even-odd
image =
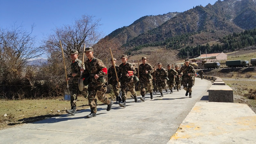
[(169, 86), (169, 89), (171, 90), (170, 93), (172, 93), (172, 87), (174, 87), (174, 90), (176, 89), (175, 77), (177, 77), (178, 72), (175, 69), (171, 68), (171, 65), (168, 64), (167, 65), (167, 73), (168, 73), (168, 78), (169, 78), (169, 81), (167, 81), (167, 84)]

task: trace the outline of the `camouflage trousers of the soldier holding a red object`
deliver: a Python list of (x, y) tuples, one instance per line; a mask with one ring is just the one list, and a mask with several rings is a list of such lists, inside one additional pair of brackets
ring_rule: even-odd
[(122, 99), (123, 100), (126, 100), (128, 89), (132, 93), (133, 96), (137, 96), (133, 78), (129, 82), (121, 83), (121, 91), (122, 91)]

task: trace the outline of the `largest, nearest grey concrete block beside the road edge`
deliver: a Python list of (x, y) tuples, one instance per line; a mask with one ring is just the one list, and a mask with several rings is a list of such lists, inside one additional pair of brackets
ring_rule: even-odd
[(212, 85), (209, 89), (209, 102), (234, 102), (233, 90), (228, 85)]

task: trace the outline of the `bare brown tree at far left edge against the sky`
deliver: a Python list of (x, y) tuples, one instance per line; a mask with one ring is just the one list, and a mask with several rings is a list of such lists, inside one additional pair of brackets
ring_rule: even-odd
[(22, 79), (29, 60), (42, 55), (34, 45), (35, 37), (22, 26), (14, 25), (11, 29), (0, 28), (0, 75), (1, 83), (8, 84)]

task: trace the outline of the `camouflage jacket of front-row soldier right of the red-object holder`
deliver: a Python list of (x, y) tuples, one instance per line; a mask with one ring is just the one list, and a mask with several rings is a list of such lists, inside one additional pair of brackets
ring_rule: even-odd
[[(148, 71), (148, 74), (146, 74), (146, 71)], [(145, 65), (140, 64), (139, 66), (139, 79), (143, 82), (148, 82), (152, 79), (151, 73), (154, 72), (153, 67), (149, 63), (145, 63)]]

